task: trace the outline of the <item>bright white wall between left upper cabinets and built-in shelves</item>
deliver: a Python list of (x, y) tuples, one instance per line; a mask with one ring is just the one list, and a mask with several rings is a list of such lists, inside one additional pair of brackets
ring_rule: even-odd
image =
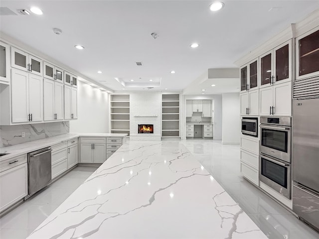
[(70, 132), (108, 133), (108, 93), (78, 82), (78, 119), (70, 120)]

